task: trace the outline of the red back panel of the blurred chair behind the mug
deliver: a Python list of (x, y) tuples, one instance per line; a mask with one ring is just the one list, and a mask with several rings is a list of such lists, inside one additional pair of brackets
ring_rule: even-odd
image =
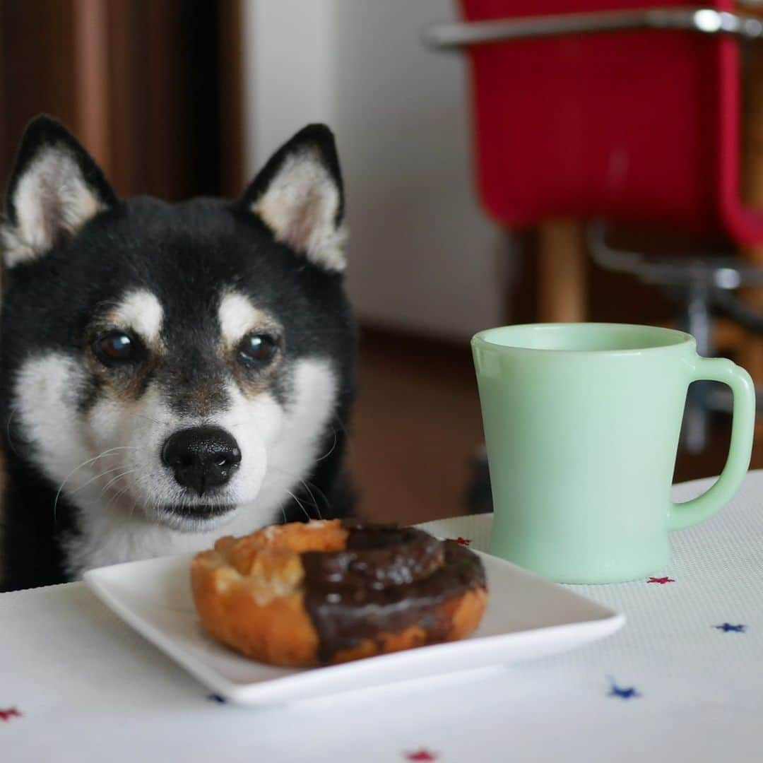
[[(465, 21), (675, 0), (460, 0)], [(731, 10), (730, 0), (703, 7)], [(763, 44), (763, 43), (758, 43)], [(763, 241), (739, 189), (738, 43), (628, 31), (468, 47), (481, 201), (508, 227), (605, 217)]]

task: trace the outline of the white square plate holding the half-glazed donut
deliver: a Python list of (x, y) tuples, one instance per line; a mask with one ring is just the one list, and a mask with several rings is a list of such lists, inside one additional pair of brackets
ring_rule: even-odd
[[(421, 525), (439, 537), (464, 536), (486, 547), (491, 517)], [(470, 538), (470, 536), (472, 536)], [(272, 704), (342, 691), (491, 668), (562, 652), (614, 633), (622, 614), (481, 553), (489, 602), (472, 637), (325, 668), (275, 668), (218, 644), (201, 629), (193, 604), (192, 555), (103, 567), (85, 582), (126, 623), (217, 694), (233, 702)]]

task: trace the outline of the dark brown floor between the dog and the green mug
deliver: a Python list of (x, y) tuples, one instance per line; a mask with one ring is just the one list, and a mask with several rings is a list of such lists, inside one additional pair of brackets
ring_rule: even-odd
[[(679, 453), (675, 481), (723, 468), (729, 421), (719, 417), (710, 447)], [(482, 443), (468, 345), (366, 330), (349, 465), (365, 517), (415, 523), (465, 513), (472, 459)], [(752, 466), (763, 467), (763, 437)]]

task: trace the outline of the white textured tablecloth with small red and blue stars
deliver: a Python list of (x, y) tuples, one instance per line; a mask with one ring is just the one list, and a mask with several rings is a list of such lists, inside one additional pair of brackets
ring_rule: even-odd
[(763, 761), (763, 472), (673, 548), (660, 581), (575, 587), (626, 613), (608, 639), (268, 710), (217, 702), (82, 584), (0, 594), (0, 761)]

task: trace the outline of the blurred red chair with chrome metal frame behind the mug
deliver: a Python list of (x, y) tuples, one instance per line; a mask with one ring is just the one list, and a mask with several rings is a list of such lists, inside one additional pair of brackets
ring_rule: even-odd
[[(462, 23), (430, 27), (424, 41), (467, 53), (476, 185), (495, 221), (516, 230), (604, 220), (763, 242), (763, 212), (746, 208), (740, 191), (739, 39), (763, 37), (760, 20), (733, 13), (729, 0), (702, 8), (680, 0), (671, 8), (656, 0), (460, 6)], [(761, 279), (725, 259), (689, 272), (623, 257), (600, 230), (591, 243), (604, 266), (684, 288), (684, 323), (704, 354), (713, 349), (710, 301), (697, 312), (697, 284), (710, 295)], [(739, 320), (763, 328), (749, 311)], [(692, 450), (704, 444), (702, 403), (693, 407)]]

